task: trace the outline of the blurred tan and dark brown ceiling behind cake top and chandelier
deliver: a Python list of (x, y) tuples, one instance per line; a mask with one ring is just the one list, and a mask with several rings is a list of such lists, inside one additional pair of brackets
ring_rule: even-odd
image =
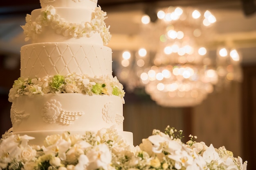
[[(213, 46), (235, 46), (241, 50), (244, 63), (256, 62), (255, 0), (98, 0), (98, 4), (107, 12), (105, 21), (111, 26), (108, 46), (113, 57), (117, 51), (148, 47), (139, 36), (141, 16), (146, 9), (192, 6), (210, 10), (216, 16)], [(20, 25), (25, 24), (26, 14), (37, 8), (39, 0), (1, 0), (0, 54), (19, 54), (20, 47), (25, 45)]]

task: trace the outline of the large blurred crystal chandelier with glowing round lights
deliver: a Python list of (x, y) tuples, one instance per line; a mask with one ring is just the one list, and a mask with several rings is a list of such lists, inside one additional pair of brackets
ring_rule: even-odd
[(214, 87), (241, 81), (239, 52), (211, 45), (216, 18), (210, 11), (168, 7), (157, 17), (156, 22), (148, 15), (141, 19), (141, 37), (157, 48), (122, 54), (119, 79), (128, 90), (144, 87), (158, 105), (189, 107), (200, 104)]

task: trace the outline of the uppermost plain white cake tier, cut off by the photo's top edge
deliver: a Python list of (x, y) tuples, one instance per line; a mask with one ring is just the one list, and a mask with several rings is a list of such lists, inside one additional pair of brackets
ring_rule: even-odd
[(98, 0), (40, 0), (42, 8), (47, 5), (54, 7), (76, 7), (76, 8), (95, 8)]

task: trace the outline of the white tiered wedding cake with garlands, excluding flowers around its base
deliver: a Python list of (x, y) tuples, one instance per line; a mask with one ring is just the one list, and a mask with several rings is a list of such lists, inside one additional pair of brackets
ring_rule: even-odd
[(124, 90), (112, 76), (106, 13), (97, 0), (40, 0), (42, 9), (22, 26), (20, 78), (10, 90), (13, 132), (33, 136), (83, 133), (115, 127), (123, 131)]

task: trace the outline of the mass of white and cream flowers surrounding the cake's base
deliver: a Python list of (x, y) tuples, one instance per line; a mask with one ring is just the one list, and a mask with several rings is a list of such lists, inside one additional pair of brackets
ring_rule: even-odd
[(34, 139), (14, 135), (11, 129), (0, 140), (0, 170), (246, 170), (247, 161), (234, 157), (225, 147), (181, 142), (182, 131), (166, 127), (153, 130), (139, 146), (129, 146), (114, 127), (97, 133), (47, 136), (44, 146)]

